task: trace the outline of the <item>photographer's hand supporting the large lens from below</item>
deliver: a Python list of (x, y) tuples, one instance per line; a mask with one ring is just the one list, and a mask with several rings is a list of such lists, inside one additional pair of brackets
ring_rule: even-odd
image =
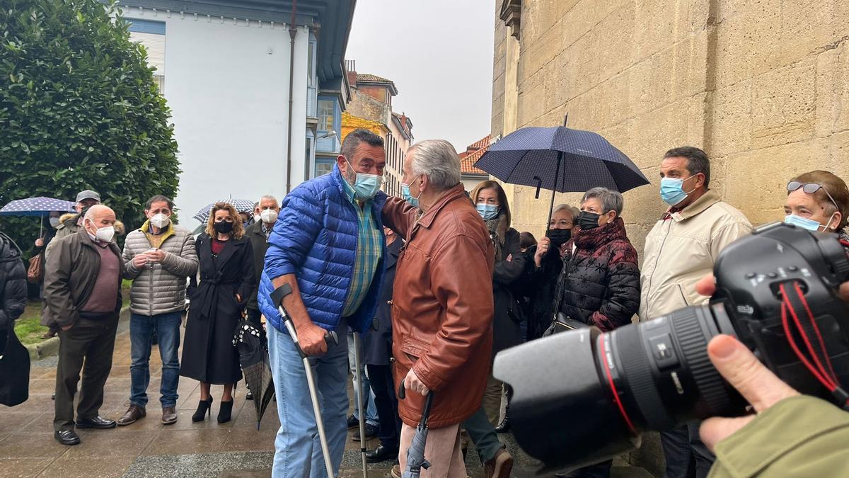
[[(730, 335), (717, 335), (707, 344), (707, 355), (723, 378), (743, 395), (760, 413), (779, 401), (799, 392), (782, 382), (757, 360), (757, 357)], [(743, 428), (754, 415), (739, 418), (708, 418), (702, 422), (699, 435), (714, 450), (719, 441)]]

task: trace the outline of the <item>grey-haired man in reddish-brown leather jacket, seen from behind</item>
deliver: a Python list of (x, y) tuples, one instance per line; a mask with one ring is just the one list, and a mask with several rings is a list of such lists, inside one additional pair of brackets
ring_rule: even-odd
[(403, 421), (400, 468), (434, 393), (424, 456), (431, 476), (465, 477), (459, 424), (481, 407), (492, 350), (494, 252), (481, 215), (460, 183), (460, 162), (443, 140), (413, 145), (402, 192), (383, 209), (385, 225), (407, 239), (396, 264), (392, 355)]

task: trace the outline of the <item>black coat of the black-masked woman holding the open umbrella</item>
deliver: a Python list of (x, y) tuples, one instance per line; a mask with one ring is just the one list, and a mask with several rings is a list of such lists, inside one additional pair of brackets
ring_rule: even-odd
[(525, 251), (522, 276), (513, 283), (513, 291), (527, 321), (527, 340), (539, 339), (554, 319), (554, 288), (563, 269), (558, 248), (549, 248), (540, 266), (533, 260), (537, 246)]

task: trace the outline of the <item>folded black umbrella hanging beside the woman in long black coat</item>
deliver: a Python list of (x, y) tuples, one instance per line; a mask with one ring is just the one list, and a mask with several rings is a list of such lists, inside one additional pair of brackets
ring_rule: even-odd
[(256, 407), (256, 430), (268, 403), (274, 396), (274, 382), (268, 358), (268, 344), (262, 327), (242, 319), (233, 335), (233, 345), (239, 350), (239, 363), (245, 374), (245, 384), (254, 394)]

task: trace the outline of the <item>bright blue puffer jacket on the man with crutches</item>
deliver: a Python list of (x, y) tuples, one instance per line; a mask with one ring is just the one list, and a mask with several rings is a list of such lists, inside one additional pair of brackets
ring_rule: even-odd
[[(286, 332), (280, 314), (270, 299), (272, 278), (295, 274), (301, 299), (312, 322), (327, 330), (339, 325), (353, 276), (357, 253), (357, 210), (345, 196), (342, 175), (333, 172), (301, 183), (284, 197), (277, 222), (268, 238), (265, 267), (262, 270), (257, 300), (262, 315), (281, 332)], [(380, 210), (386, 195), (374, 197), (372, 213), (380, 231)], [(381, 234), (382, 236), (382, 234)], [(386, 257), (383, 243), (381, 258)], [(380, 259), (374, 279), (359, 310), (348, 325), (360, 333), (371, 327), (384, 276)]]

